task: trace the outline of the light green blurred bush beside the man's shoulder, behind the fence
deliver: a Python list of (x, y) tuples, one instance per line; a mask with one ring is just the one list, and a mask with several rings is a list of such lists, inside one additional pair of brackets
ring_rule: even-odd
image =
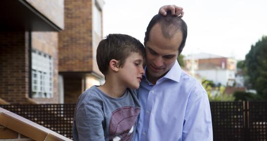
[[(231, 94), (225, 94), (225, 87), (212, 87), (213, 81), (202, 79), (202, 86), (206, 90), (210, 101), (233, 101), (234, 97)], [(215, 86), (215, 85), (214, 85)]]

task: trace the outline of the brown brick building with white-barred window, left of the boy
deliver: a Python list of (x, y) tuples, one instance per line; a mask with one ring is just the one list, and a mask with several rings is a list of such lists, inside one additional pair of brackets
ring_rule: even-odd
[(0, 104), (75, 103), (95, 63), (102, 0), (1, 0)]

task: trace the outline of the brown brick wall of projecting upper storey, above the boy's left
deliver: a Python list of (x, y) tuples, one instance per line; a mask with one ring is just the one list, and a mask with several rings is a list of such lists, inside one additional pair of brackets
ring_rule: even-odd
[(65, 30), (59, 33), (59, 72), (92, 71), (91, 0), (64, 0)]

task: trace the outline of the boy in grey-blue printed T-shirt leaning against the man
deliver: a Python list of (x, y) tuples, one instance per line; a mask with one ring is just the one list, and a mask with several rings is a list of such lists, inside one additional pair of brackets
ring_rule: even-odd
[(140, 104), (136, 97), (144, 74), (143, 45), (123, 34), (110, 34), (96, 52), (105, 84), (80, 95), (73, 122), (75, 141), (134, 141)]

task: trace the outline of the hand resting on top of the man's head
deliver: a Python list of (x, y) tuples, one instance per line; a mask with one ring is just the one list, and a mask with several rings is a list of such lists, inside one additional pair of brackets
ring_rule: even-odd
[(172, 11), (172, 15), (177, 15), (178, 17), (182, 17), (183, 16), (183, 9), (182, 7), (178, 7), (176, 5), (164, 5), (162, 7), (160, 7), (159, 9), (159, 14), (166, 16), (167, 15), (167, 11)]

